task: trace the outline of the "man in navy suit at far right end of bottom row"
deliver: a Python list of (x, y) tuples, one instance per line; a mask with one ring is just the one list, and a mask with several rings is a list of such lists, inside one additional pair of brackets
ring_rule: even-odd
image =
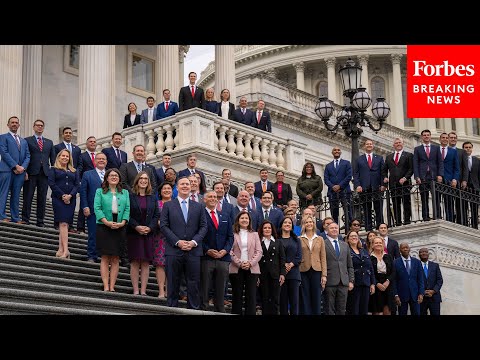
[(420, 256), (422, 262), (423, 281), (425, 283), (425, 295), (420, 304), (420, 315), (427, 315), (427, 310), (430, 310), (430, 315), (440, 315), (440, 303), (442, 302), (440, 289), (443, 285), (440, 266), (433, 261), (428, 261), (427, 248), (421, 248), (418, 251), (418, 256)]

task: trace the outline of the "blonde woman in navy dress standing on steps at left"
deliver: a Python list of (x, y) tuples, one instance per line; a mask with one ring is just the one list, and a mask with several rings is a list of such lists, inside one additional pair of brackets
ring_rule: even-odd
[(48, 173), (48, 186), (52, 189), (54, 221), (58, 222), (58, 251), (56, 257), (70, 259), (68, 251), (68, 224), (73, 222), (77, 192), (80, 188), (78, 172), (73, 167), (72, 154), (61, 150), (55, 159), (55, 165)]

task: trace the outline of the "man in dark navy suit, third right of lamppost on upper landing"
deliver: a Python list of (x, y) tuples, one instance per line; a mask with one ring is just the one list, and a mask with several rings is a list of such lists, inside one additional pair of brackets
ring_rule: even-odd
[[(439, 183), (443, 180), (443, 159), (440, 147), (430, 143), (432, 134), (430, 130), (421, 132), (422, 144), (413, 150), (413, 174), (415, 181), (420, 185), (420, 197), (422, 199), (422, 217), (424, 221), (430, 220), (428, 193), (432, 191), (432, 181)], [(435, 199), (434, 199), (435, 200)], [(440, 215), (440, 204), (434, 201), (437, 206), (434, 218)]]

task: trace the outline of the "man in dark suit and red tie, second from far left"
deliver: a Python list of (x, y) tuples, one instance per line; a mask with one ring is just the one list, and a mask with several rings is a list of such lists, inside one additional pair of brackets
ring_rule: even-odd
[(30, 163), (23, 183), (22, 222), (30, 223), (32, 200), (37, 189), (37, 226), (44, 227), (45, 205), (47, 203), (48, 171), (55, 165), (53, 141), (42, 136), (45, 122), (37, 119), (33, 123), (34, 135), (26, 137), (30, 151)]

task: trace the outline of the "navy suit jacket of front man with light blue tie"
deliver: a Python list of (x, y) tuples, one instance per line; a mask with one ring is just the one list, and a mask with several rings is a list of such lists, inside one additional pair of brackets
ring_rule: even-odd
[(205, 208), (195, 202), (188, 201), (187, 222), (183, 218), (182, 208), (177, 199), (163, 204), (160, 215), (160, 231), (165, 235), (165, 255), (183, 256), (184, 251), (176, 244), (179, 240), (194, 240), (197, 246), (190, 250), (191, 256), (203, 255), (203, 239), (207, 234), (207, 218)]

